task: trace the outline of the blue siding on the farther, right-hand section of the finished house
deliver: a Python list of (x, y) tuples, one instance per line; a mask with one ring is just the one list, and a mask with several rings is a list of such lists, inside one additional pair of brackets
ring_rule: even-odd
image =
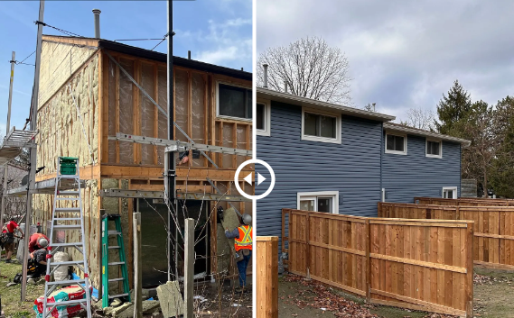
[[(385, 137), (385, 134), (384, 134)], [(382, 150), (384, 151), (384, 150)], [(461, 146), (443, 141), (443, 158), (425, 157), (425, 137), (407, 136), (407, 156), (383, 154), (382, 187), (387, 202), (413, 203), (415, 196), (442, 196), (444, 186), (461, 187)]]

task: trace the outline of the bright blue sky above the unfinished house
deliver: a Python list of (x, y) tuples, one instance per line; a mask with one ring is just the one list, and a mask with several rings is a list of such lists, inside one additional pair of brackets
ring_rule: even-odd
[[(85, 37), (94, 36), (91, 10), (98, 8), (107, 40), (162, 38), (167, 32), (165, 1), (46, 1), (44, 22)], [(5, 134), (11, 52), (21, 61), (35, 50), (39, 1), (0, 1), (0, 134)], [(173, 1), (173, 55), (229, 68), (252, 68), (252, 1)], [(62, 35), (49, 27), (43, 34)], [(159, 41), (125, 41), (152, 49)], [(155, 50), (166, 52), (164, 41)], [(34, 55), (25, 63), (33, 64)], [(14, 70), (13, 118), (22, 128), (29, 115), (33, 66)]]

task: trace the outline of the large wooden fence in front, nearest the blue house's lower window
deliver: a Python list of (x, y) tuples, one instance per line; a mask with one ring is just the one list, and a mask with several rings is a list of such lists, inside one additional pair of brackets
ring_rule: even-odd
[(282, 250), (291, 273), (371, 303), (472, 316), (471, 221), (283, 209), (283, 220), (287, 217)]

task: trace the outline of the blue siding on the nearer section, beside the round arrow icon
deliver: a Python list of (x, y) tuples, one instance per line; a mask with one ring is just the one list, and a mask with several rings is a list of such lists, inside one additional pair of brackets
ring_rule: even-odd
[(271, 103), (271, 136), (257, 135), (257, 159), (274, 169), (276, 184), (257, 200), (257, 235), (281, 235), (282, 208), (295, 209), (298, 192), (339, 191), (340, 214), (377, 215), (381, 123), (343, 116), (341, 144), (302, 141), (301, 126), (301, 107)]

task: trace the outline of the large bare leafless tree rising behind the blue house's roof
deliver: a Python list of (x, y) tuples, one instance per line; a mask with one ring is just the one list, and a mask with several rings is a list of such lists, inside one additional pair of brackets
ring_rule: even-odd
[(264, 84), (263, 64), (268, 65), (267, 86), (323, 102), (350, 105), (349, 63), (338, 48), (321, 38), (300, 39), (287, 47), (268, 48), (258, 57), (257, 86)]

